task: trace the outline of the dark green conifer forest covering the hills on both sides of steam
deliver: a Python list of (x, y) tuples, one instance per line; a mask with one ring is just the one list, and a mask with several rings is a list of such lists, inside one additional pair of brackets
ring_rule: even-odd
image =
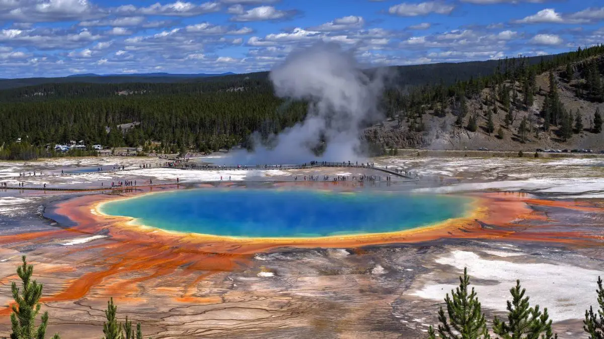
[[(566, 69), (562, 74), (568, 73), (567, 79), (584, 80), (576, 86), (577, 97), (602, 101), (602, 54), (604, 46), (593, 46), (544, 58), (399, 68), (400, 76), (387, 83), (381, 109), (387, 118), (406, 119), (414, 131), (425, 128), (422, 116), (426, 114), (452, 114), (457, 117), (456, 125), (463, 127), (467, 120), (465, 128), (472, 131), (478, 127), (472, 116), (464, 119), (469, 113), (468, 100), (480, 98), (490, 88), (492, 95), (484, 103), (487, 112), (492, 106), (497, 113), (498, 106), (503, 106), (511, 120), (512, 110), (533, 104), (536, 75), (550, 72), (550, 83), (555, 83), (553, 71), (559, 68)], [(422, 78), (423, 84), (408, 80), (434, 69), (439, 71)], [(489, 75), (478, 76), (488, 71)], [(521, 84), (521, 90), (510, 83)], [(583, 127), (581, 119), (565, 111), (555, 87), (549, 90), (541, 110), (543, 129), (556, 127), (561, 138), (567, 138), (573, 129)], [(253, 132), (264, 138), (279, 133), (304, 119), (306, 112), (307, 103), (275, 97), (266, 72), (179, 83), (36, 84), (0, 90), (0, 158), (53, 156), (45, 147), (80, 140), (86, 145), (143, 147), (159, 153), (219, 150), (245, 145)], [(495, 133), (494, 125), (486, 128), (489, 134)], [(602, 128), (601, 118), (596, 128)], [(525, 131), (519, 131), (521, 139), (525, 133), (526, 124)], [(18, 138), (21, 145), (16, 144)]]

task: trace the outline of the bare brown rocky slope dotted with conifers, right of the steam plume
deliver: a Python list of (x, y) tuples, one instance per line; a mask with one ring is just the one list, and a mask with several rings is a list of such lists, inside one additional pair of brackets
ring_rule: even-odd
[[(604, 150), (602, 132), (594, 133), (594, 113), (599, 107), (604, 113), (604, 103), (587, 97), (586, 68), (596, 63), (599, 69), (604, 65), (604, 57), (592, 57), (570, 65), (571, 75), (568, 76), (568, 65), (554, 69), (553, 75), (557, 87), (559, 101), (566, 112), (573, 116), (573, 133), (570, 137), (563, 136), (562, 125), (551, 125), (546, 131), (542, 108), (545, 98), (550, 91), (549, 73), (536, 75), (532, 93), (534, 100), (530, 107), (524, 102), (524, 91), (519, 81), (505, 81), (498, 86), (483, 89), (479, 95), (466, 99), (467, 114), (459, 119), (460, 103), (452, 98), (446, 103), (446, 114), (440, 113), (438, 104), (426, 105), (425, 114), (420, 120), (413, 121), (398, 112), (394, 119), (387, 119), (381, 124), (374, 125), (364, 131), (364, 138), (373, 144), (385, 148), (426, 148), (435, 150), (464, 150), (486, 147), (489, 150), (534, 150), (535, 148), (576, 149), (591, 148)], [(598, 71), (599, 72), (599, 71)], [(599, 74), (601, 77), (601, 74)], [(506, 125), (506, 115), (501, 101), (501, 86), (509, 89), (510, 107), (512, 107), (511, 124)], [(490, 98), (496, 98), (493, 105)], [(496, 105), (496, 109), (495, 109)], [(487, 133), (488, 110), (492, 112), (493, 132)], [(577, 112), (581, 117), (582, 130), (574, 129)], [(477, 130), (471, 131), (469, 119), (475, 118)], [(521, 122), (525, 118), (524, 142), (520, 135)], [(457, 123), (456, 123), (457, 120)], [(463, 124), (459, 122), (463, 121)], [(417, 124), (423, 124), (417, 128)], [(420, 131), (417, 131), (420, 130)], [(500, 132), (500, 133), (498, 133)]]

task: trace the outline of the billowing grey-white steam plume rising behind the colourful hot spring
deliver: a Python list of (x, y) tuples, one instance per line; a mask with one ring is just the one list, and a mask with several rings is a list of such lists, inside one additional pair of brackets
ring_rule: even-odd
[[(231, 160), (299, 163), (359, 159), (362, 125), (381, 116), (377, 100), (383, 77), (369, 77), (352, 52), (333, 43), (317, 43), (292, 52), (269, 77), (278, 97), (309, 102), (307, 117), (275, 136), (273, 147), (262, 145), (255, 136), (254, 151), (237, 151)], [(320, 156), (315, 154), (318, 149), (323, 151)]]

